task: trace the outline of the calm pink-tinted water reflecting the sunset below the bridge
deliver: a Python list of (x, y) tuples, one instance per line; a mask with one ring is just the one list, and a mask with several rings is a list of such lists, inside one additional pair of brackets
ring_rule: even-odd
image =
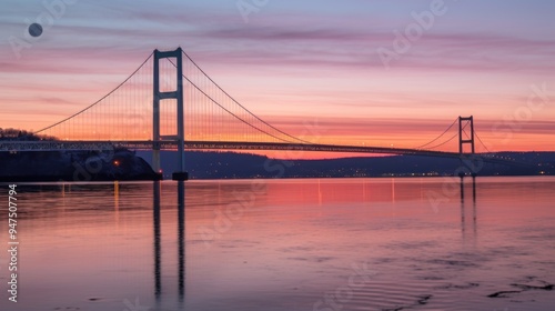
[(20, 184), (19, 302), (8, 301), (2, 251), (0, 309), (555, 310), (555, 178), (474, 188)]

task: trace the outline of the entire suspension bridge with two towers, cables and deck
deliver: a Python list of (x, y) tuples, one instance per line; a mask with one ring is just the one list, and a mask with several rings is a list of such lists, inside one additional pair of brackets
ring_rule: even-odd
[[(458, 129), (456, 124), (458, 123)], [(34, 132), (40, 140), (3, 140), (1, 151), (152, 150), (153, 170), (160, 151), (178, 150), (184, 173), (184, 150), (292, 150), (412, 154), (462, 158), (474, 154), (480, 139), (473, 117), (458, 117), (430, 142), (414, 148), (324, 144), (290, 134), (258, 117), (224, 91), (181, 48), (154, 50), (113, 90), (80, 111)], [(441, 150), (456, 142), (455, 151)], [(467, 147), (468, 146), (468, 147)], [(465, 148), (466, 147), (466, 148)], [(491, 152), (484, 161), (506, 164)]]

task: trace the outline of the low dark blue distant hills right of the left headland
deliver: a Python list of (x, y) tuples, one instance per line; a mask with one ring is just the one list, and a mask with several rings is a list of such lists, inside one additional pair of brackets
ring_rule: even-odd
[[(150, 152), (137, 154), (148, 162), (151, 160)], [(485, 163), (480, 175), (555, 174), (555, 152), (500, 152), (497, 156), (531, 165)], [(165, 178), (176, 171), (175, 152), (162, 151), (161, 160)], [(191, 179), (453, 175), (460, 167), (458, 159), (423, 156), (286, 161), (236, 152), (185, 152), (185, 169)]]

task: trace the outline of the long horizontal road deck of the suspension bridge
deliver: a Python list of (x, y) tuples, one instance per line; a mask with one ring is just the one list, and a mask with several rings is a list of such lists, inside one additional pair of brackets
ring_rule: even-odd
[[(176, 150), (175, 141), (158, 142), (161, 150)], [(131, 150), (152, 150), (153, 141), (0, 141), (0, 152), (28, 151), (83, 151), (83, 150), (113, 150), (127, 148)], [(222, 142), (222, 141), (185, 141), (186, 150), (280, 150), (280, 151), (324, 151), (352, 152), (373, 154), (404, 154), (426, 156), (460, 159), (458, 152), (432, 151), (422, 149), (339, 146), (339, 144), (307, 144), (279, 142)], [(466, 154), (468, 157), (470, 154)], [(477, 153), (482, 160), (498, 164), (517, 164), (515, 161), (495, 158), (495, 154)], [(475, 156), (475, 157), (476, 157)]]

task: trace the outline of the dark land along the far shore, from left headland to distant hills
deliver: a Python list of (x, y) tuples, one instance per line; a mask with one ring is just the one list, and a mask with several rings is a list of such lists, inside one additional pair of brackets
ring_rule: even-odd
[[(0, 129), (0, 140), (56, 140), (18, 130)], [(478, 175), (555, 174), (555, 152), (498, 152), (497, 158), (526, 165), (478, 163)], [(145, 160), (144, 160), (145, 159)], [(111, 151), (0, 152), (0, 181), (107, 181), (154, 180), (151, 152)], [(176, 153), (162, 151), (164, 178), (178, 171)], [(424, 156), (360, 157), (324, 160), (283, 160), (264, 156), (185, 151), (185, 170), (191, 179), (250, 178), (363, 178), (438, 177), (464, 171), (458, 159)]]

